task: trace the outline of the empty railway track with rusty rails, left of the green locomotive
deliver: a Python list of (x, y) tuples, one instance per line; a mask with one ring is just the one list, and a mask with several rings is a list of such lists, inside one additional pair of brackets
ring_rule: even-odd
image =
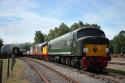
[(29, 58), (21, 58), (27, 62), (45, 83), (79, 83), (78, 81), (58, 72), (45, 64)]

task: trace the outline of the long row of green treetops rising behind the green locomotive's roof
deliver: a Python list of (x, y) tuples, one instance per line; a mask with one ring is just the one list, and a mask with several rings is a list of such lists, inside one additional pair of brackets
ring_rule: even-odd
[(70, 31), (73, 31), (82, 27), (91, 27), (91, 28), (100, 29), (100, 26), (98, 26), (97, 24), (88, 24), (88, 23), (84, 24), (82, 21), (79, 21), (78, 23), (74, 23), (70, 27), (68, 27), (64, 23), (61, 23), (59, 27), (55, 27), (54, 29), (51, 29), (48, 35), (44, 35), (44, 39), (45, 41), (49, 41), (51, 39), (54, 39), (56, 37), (59, 37), (63, 34), (66, 34)]

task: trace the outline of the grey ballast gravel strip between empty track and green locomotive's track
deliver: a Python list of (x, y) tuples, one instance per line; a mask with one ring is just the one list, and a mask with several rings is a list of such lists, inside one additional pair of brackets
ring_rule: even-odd
[(77, 80), (79, 83), (105, 83), (102, 80), (98, 80), (95, 78), (92, 78), (90, 76), (87, 76), (85, 74), (82, 74), (79, 72), (78, 69), (75, 68), (67, 68), (65, 66), (62, 65), (57, 65), (56, 63), (53, 62), (45, 62), (45, 61), (41, 61), (39, 60), (42, 64), (45, 64), (53, 69), (55, 69), (56, 71), (59, 71), (67, 76), (69, 76), (70, 78)]

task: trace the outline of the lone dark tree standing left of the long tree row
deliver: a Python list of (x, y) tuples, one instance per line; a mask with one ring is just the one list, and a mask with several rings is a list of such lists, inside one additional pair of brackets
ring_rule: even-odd
[(42, 43), (44, 42), (44, 35), (41, 33), (41, 31), (36, 31), (35, 38), (34, 38), (34, 44)]

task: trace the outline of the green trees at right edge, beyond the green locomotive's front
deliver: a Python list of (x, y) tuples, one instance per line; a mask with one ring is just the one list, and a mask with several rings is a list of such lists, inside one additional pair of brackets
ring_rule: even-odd
[(125, 31), (120, 31), (113, 40), (110, 41), (115, 53), (125, 53)]

